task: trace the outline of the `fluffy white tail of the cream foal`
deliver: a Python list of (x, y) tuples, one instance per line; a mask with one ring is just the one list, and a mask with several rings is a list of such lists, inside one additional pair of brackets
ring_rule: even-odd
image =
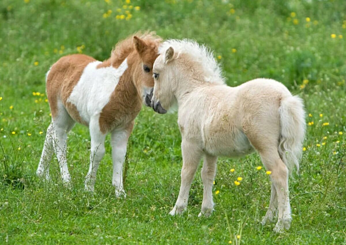
[(279, 107), (281, 137), (279, 154), (286, 164), (290, 174), (294, 165), (299, 171), (299, 162), (302, 155), (302, 146), (305, 136), (305, 110), (303, 100), (298, 96), (283, 99)]

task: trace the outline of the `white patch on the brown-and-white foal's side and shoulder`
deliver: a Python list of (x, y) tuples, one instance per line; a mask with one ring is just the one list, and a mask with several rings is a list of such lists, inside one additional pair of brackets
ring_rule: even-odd
[(127, 59), (118, 68), (97, 68), (102, 62), (94, 61), (88, 64), (77, 85), (73, 88), (67, 102), (77, 108), (80, 117), (89, 124), (93, 115), (100, 114), (109, 102), (120, 77), (127, 69)]

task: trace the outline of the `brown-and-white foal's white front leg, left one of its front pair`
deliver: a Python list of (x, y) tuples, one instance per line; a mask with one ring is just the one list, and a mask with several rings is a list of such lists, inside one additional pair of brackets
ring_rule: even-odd
[(90, 165), (89, 171), (85, 176), (85, 190), (94, 191), (94, 185), (96, 180), (96, 173), (99, 168), (101, 159), (106, 152), (104, 149), (104, 140), (106, 134), (100, 131), (99, 117), (92, 117), (89, 124), (90, 137), (91, 137), (91, 148), (90, 148)]

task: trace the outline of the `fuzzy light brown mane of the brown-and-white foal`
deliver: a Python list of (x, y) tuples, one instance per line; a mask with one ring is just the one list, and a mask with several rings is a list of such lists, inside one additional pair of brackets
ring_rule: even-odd
[(157, 36), (154, 31), (146, 31), (145, 33), (138, 31), (137, 33), (117, 43), (116, 46), (112, 49), (110, 58), (99, 64), (97, 68), (108, 66), (117, 68), (125, 60), (125, 58), (134, 51), (134, 36), (142, 39), (146, 43), (146, 45), (150, 47), (157, 47), (162, 41), (162, 38)]

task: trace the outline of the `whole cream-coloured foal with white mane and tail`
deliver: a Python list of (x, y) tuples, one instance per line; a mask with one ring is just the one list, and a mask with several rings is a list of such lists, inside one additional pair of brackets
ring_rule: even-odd
[(178, 106), (183, 166), (178, 199), (171, 215), (182, 213), (201, 158), (204, 187), (201, 214), (213, 210), (212, 186), (218, 156), (260, 154), (270, 175), (271, 198), (262, 224), (278, 220), (275, 232), (289, 229), (288, 175), (299, 167), (305, 134), (302, 100), (281, 83), (255, 79), (228, 87), (212, 53), (191, 40), (167, 40), (153, 68), (152, 107), (165, 113)]

